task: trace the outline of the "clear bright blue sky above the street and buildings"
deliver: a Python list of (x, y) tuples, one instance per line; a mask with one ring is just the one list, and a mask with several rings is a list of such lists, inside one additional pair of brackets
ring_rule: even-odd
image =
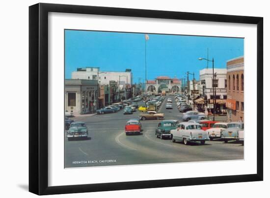
[[(182, 78), (186, 72), (206, 68), (215, 59), (215, 68), (226, 68), (226, 61), (243, 56), (243, 38), (148, 34), (146, 42), (147, 79), (159, 75)], [(212, 62), (209, 62), (212, 68)], [(145, 78), (145, 34), (65, 30), (65, 78), (81, 67), (101, 71), (132, 69), (134, 83)]]

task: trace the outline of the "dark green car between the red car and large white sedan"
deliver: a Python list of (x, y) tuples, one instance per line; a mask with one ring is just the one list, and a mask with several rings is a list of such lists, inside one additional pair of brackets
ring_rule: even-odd
[(177, 124), (173, 121), (162, 121), (158, 124), (158, 127), (156, 128), (156, 137), (160, 139), (163, 139), (164, 137), (170, 138), (170, 131), (172, 129), (176, 129), (176, 127)]

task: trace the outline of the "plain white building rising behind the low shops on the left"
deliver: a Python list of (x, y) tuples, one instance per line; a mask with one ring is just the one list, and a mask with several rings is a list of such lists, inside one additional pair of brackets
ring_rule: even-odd
[(122, 86), (126, 86), (126, 84), (132, 85), (133, 83), (131, 69), (126, 69), (124, 72), (111, 72), (100, 71), (99, 67), (78, 68), (77, 71), (72, 72), (71, 78), (87, 80), (97, 80), (97, 78), (99, 78), (99, 83), (101, 85), (109, 85), (109, 81), (115, 81), (118, 84), (119, 79), (120, 85)]

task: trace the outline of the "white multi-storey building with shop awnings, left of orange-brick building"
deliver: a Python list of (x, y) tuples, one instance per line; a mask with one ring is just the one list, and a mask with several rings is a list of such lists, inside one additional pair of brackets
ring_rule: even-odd
[[(227, 99), (227, 69), (214, 69), (216, 73), (216, 107), (223, 109)], [(213, 103), (213, 69), (200, 70), (199, 94)]]

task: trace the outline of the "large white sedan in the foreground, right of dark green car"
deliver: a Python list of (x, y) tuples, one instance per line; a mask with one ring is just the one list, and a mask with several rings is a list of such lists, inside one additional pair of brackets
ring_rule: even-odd
[(209, 137), (200, 124), (183, 122), (178, 124), (177, 129), (171, 130), (171, 140), (172, 142), (183, 141), (185, 145), (189, 142), (201, 142), (204, 145)]

